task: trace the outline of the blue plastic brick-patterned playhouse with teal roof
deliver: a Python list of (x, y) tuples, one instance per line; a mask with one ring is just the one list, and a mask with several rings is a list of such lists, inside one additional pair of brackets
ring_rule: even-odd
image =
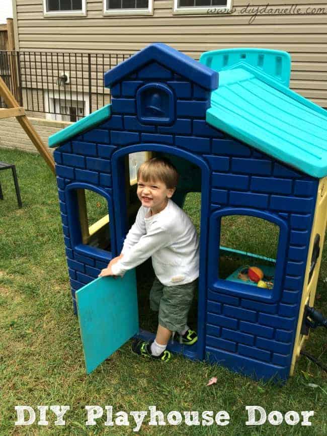
[[(327, 116), (292, 92), (289, 78), (285, 52), (219, 50), (198, 62), (164, 44), (105, 73), (112, 104), (49, 140), (73, 301), (120, 253), (138, 207), (128, 156), (169, 156), (181, 173), (173, 200), (183, 206), (201, 192), (199, 339), (172, 349), (257, 378), (292, 374), (326, 226)], [(108, 203), (93, 230), (87, 190)], [(277, 229), (276, 256), (223, 246), (222, 224), (234, 217)], [(269, 286), (247, 281), (244, 265), (223, 274), (237, 255), (252, 257)]]

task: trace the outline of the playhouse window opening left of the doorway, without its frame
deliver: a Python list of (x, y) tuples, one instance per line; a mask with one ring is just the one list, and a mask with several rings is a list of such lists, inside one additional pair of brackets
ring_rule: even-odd
[(79, 189), (77, 201), (82, 243), (110, 251), (110, 219), (107, 200), (94, 191)]

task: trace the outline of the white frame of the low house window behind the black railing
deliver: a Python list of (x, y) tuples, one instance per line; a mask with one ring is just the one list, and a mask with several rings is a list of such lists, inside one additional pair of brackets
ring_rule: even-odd
[[(60, 97), (61, 102), (64, 101), (64, 91), (60, 91)], [(84, 100), (84, 108), (85, 108), (85, 117), (87, 115), (90, 115), (90, 98), (88, 93), (84, 93), (84, 99), (83, 94), (79, 92), (76, 94), (75, 92), (69, 92), (66, 91), (66, 103), (67, 105), (70, 102), (70, 96), (71, 101), (81, 101)], [(78, 99), (77, 99), (78, 96)], [(65, 117), (65, 115), (62, 114), (54, 114), (54, 108), (55, 104), (59, 103), (59, 91), (46, 91), (44, 90), (44, 110), (45, 110), (45, 119), (51, 120), (51, 121), (64, 121), (62, 117)], [(49, 113), (51, 112), (51, 113)], [(68, 121), (69, 122), (69, 121)]]

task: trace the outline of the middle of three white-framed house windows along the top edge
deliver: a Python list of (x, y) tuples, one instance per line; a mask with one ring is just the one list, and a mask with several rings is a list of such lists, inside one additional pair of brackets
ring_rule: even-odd
[(153, 0), (104, 0), (104, 15), (152, 15)]

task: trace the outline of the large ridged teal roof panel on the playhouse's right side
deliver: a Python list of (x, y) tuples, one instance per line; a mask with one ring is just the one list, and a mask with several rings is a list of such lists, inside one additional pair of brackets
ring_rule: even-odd
[(251, 66), (219, 72), (206, 119), (310, 176), (327, 176), (327, 112)]

